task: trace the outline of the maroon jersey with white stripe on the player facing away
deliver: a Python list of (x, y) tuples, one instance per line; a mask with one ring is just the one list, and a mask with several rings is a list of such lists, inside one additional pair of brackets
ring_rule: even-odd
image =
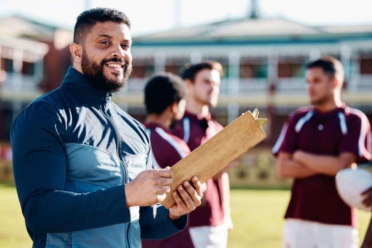
[[(152, 146), (154, 168), (173, 166), (190, 153), (185, 141), (171, 134), (168, 128), (159, 124), (145, 124)], [(164, 240), (143, 240), (143, 248), (193, 248), (194, 245), (186, 228)]]

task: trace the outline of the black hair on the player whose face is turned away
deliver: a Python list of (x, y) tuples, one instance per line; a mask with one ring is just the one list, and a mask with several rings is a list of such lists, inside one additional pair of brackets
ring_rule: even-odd
[(157, 74), (145, 86), (147, 113), (161, 114), (168, 106), (186, 97), (182, 78), (172, 73)]

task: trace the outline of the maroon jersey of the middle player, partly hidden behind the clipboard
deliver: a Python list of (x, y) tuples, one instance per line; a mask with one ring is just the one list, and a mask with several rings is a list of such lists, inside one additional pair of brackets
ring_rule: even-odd
[[(211, 118), (200, 118), (186, 111), (184, 118), (177, 123), (174, 134), (185, 140), (191, 151), (212, 138), (223, 129)], [(197, 207), (189, 214), (190, 227), (217, 226), (224, 223), (222, 181), (209, 179), (204, 192), (205, 204)]]

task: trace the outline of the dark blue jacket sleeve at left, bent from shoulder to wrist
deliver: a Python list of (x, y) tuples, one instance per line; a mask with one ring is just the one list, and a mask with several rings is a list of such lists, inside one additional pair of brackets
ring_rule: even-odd
[(33, 233), (67, 233), (129, 222), (124, 185), (89, 193), (64, 191), (66, 124), (47, 103), (32, 103), (11, 129), (16, 189)]

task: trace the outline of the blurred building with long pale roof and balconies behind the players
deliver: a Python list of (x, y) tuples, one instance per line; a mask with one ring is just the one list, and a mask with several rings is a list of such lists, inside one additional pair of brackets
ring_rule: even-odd
[(136, 37), (132, 53), (127, 93), (139, 95), (144, 78), (154, 72), (179, 73), (185, 63), (221, 62), (225, 75), (215, 114), (228, 124), (258, 108), (269, 118), (267, 145), (275, 142), (291, 111), (309, 104), (305, 65), (323, 55), (344, 65), (343, 101), (372, 117), (372, 24), (310, 27), (283, 18), (226, 20)]

